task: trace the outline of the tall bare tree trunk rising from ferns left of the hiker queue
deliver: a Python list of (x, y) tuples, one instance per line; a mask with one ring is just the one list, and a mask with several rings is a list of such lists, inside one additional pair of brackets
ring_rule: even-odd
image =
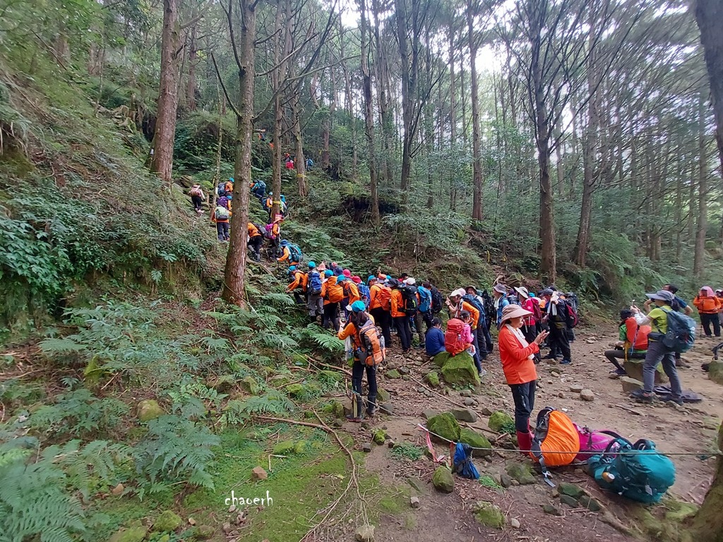
[[(229, 1), (229, 9), (234, 4)], [(251, 147), (254, 117), (254, 42), (256, 41), (256, 12), (254, 0), (239, 0), (241, 9), (241, 39), (239, 49), (239, 116), (236, 119), (236, 163), (234, 178), (240, 189), (234, 199), (231, 217), (231, 241), (226, 256), (221, 296), (228, 303), (244, 306), (244, 278), (247, 255), (247, 223), (249, 222), (249, 191), (251, 183)], [(229, 17), (229, 24), (231, 17)]]

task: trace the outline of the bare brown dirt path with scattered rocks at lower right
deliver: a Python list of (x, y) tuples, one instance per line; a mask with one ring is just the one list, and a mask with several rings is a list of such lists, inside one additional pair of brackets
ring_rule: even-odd
[[(535, 412), (544, 406), (553, 406), (565, 410), (577, 423), (591, 429), (612, 429), (630, 439), (649, 438), (656, 442), (664, 452), (698, 452), (712, 449), (717, 425), (723, 417), (723, 387), (710, 382), (700, 369), (701, 361), (709, 361), (711, 340), (699, 340), (696, 349), (685, 358), (691, 364), (690, 369), (680, 369), (683, 387), (703, 395), (705, 399), (696, 405), (672, 408), (664, 405), (639, 405), (628, 399), (622, 392), (617, 380), (609, 379), (611, 366), (602, 352), (609, 343), (617, 340), (614, 326), (610, 330), (599, 328), (578, 331), (573, 343), (573, 364), (560, 366), (546, 364), (538, 366), (539, 391), (536, 395)], [(427, 356), (390, 356), (390, 361), (410, 369), (409, 380), (389, 380), (380, 378), (380, 387), (390, 392), (396, 416), (379, 416), (371, 424), (371, 429), (385, 427), (396, 442), (414, 442), (424, 445), (422, 431), (415, 423), (424, 423), (423, 410), (443, 412), (455, 408), (440, 395), (432, 395), (420, 387), (416, 380), (429, 370)], [(560, 371), (560, 377), (552, 376), (551, 369)], [(482, 410), (502, 409), (513, 412), (512, 397), (509, 388), (503, 384), (502, 369), (495, 352), (488, 358), (487, 370), (482, 390), (473, 395), (476, 405), (470, 406), (479, 415), (473, 429), (487, 430), (487, 417)], [(580, 400), (578, 393), (570, 392), (572, 384), (582, 384), (592, 390), (595, 399), (592, 402)], [(420, 391), (421, 390), (421, 391)], [(431, 395), (431, 397), (429, 397)], [(466, 397), (452, 392), (448, 397), (455, 403), (464, 403)], [(618, 405), (634, 410), (623, 410)], [(405, 418), (405, 419), (403, 419)], [(464, 424), (463, 424), (464, 425)], [(369, 429), (355, 424), (347, 424), (346, 429), (356, 431), (357, 443), (369, 441)], [(482, 431), (484, 432), (484, 431)], [(435, 445), (437, 455), (448, 455), (449, 449)], [(455, 477), (455, 490), (452, 494), (442, 494), (432, 486), (431, 478), (435, 465), (426, 457), (412, 462), (395, 460), (387, 447), (372, 447), (366, 455), (366, 468), (378, 473), (387, 483), (401, 483), (407, 486), (412, 478), (416, 488), (412, 494), (419, 494), (421, 507), (401, 514), (383, 515), (377, 528), (377, 540), (403, 542), (432, 542), (442, 538), (455, 541), (482, 541), (494, 536), (496, 541), (570, 541), (584, 542), (599, 540), (633, 540), (603, 522), (603, 515), (584, 509), (570, 509), (560, 505), (556, 491), (542, 483), (531, 486), (512, 486), (507, 490), (490, 489), (477, 481)], [(499, 479), (505, 464), (519, 461), (516, 453), (495, 454), (489, 460), (476, 459), (481, 474)], [(675, 456), (677, 480), (672, 492), (681, 500), (701, 502), (708, 489), (714, 469), (714, 459), (700, 460), (695, 456)], [(618, 517), (625, 517), (625, 502), (615, 496), (603, 494), (595, 482), (581, 468), (565, 468), (555, 473), (555, 481), (568, 481), (585, 487), (596, 496), (605, 507)], [(492, 530), (478, 525), (472, 517), (474, 502), (486, 500), (495, 502), (505, 512), (508, 526), (504, 530)], [(554, 504), (563, 514), (562, 517), (544, 513), (542, 505)], [(510, 527), (510, 520), (520, 522), (518, 529)]]

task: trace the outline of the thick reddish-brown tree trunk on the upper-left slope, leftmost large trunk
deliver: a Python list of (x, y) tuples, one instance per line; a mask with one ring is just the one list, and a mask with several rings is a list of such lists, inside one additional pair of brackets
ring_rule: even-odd
[(179, 0), (163, 0), (163, 34), (161, 36), (161, 84), (155, 134), (150, 144), (150, 171), (171, 184), (176, 137), (176, 111), (179, 105), (179, 53), (181, 34), (178, 25)]

